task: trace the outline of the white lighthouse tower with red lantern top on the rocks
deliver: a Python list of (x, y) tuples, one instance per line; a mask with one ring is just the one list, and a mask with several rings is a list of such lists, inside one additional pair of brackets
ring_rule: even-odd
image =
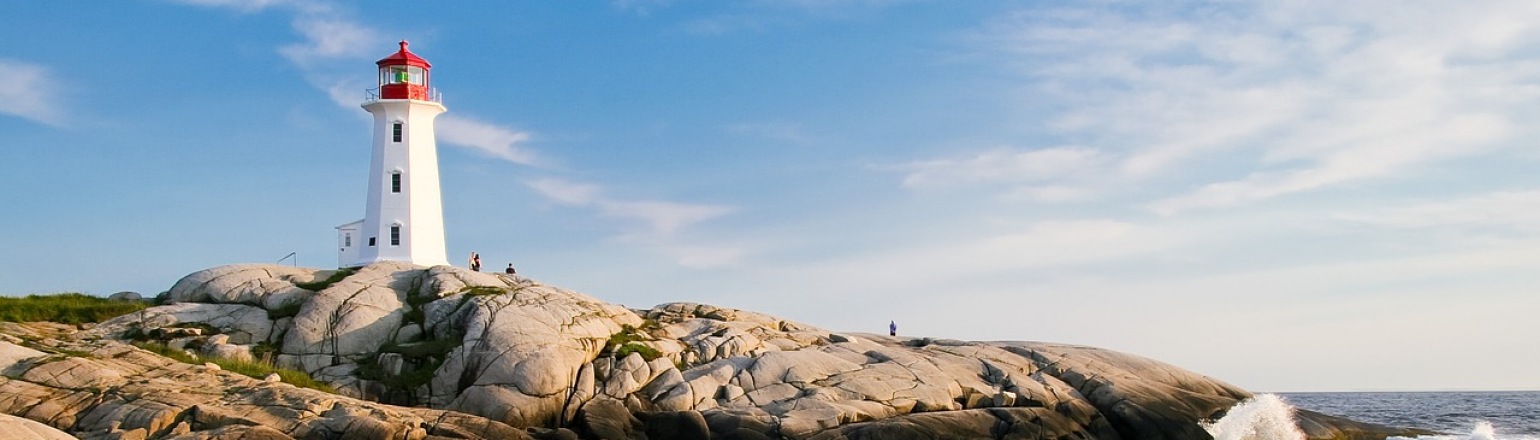
[(363, 100), (363, 109), (374, 115), (368, 198), (363, 220), (337, 226), (337, 265), (448, 265), (433, 138), (433, 118), (445, 109), (428, 82), (431, 65), (407, 51), (405, 40), (400, 51), (376, 65), (379, 89)]

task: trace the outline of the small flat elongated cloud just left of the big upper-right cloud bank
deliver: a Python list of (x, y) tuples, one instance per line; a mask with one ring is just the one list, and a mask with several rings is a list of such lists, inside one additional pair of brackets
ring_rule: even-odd
[(1016, 151), (996, 148), (966, 158), (913, 162), (904, 186), (912, 189), (992, 183), (1033, 183), (1073, 178), (1103, 162), (1095, 149), (1078, 146)]

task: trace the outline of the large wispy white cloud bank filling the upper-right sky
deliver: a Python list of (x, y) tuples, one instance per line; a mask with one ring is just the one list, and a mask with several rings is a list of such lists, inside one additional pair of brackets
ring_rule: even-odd
[(978, 42), (1061, 105), (1047, 128), (1087, 138), (1127, 182), (1189, 180), (1217, 155), (1237, 166), (1149, 203), (1175, 214), (1406, 175), (1532, 137), (1512, 115), (1540, 97), (1540, 65), (1525, 55), (1540, 43), (1540, 6), (1478, 3), (1092, 3), (996, 18)]

